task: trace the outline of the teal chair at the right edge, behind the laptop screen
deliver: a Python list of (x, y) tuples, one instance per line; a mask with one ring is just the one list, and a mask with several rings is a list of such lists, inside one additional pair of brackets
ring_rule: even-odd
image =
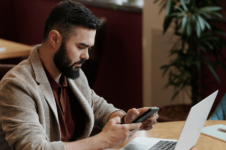
[(209, 120), (226, 120), (226, 94), (221, 99)]

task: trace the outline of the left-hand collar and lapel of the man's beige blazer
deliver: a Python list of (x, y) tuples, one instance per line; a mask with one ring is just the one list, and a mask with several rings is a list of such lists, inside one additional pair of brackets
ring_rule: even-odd
[(34, 78), (39, 85), (39, 88), (42, 91), (44, 97), (46, 98), (46, 101), (48, 102), (50, 108), (52, 109), (57, 122), (59, 123), (54, 95), (38, 54), (38, 49), (40, 46), (41, 45), (37, 45), (31, 51), (28, 61), (31, 63), (31, 66), (34, 70)]

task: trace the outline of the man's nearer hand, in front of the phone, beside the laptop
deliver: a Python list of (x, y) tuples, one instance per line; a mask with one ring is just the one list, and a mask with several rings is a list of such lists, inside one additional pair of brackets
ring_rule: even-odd
[(112, 118), (104, 126), (100, 133), (102, 142), (106, 147), (115, 147), (122, 144), (126, 139), (133, 136), (133, 134), (140, 129), (141, 123), (134, 124), (120, 124), (120, 117)]

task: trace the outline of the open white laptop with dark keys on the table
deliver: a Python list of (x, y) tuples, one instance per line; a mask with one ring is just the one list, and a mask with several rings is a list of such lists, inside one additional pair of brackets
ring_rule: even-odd
[[(137, 137), (120, 150), (190, 150), (198, 141), (217, 93), (214, 92), (191, 108), (178, 140)], [(168, 148), (164, 148), (164, 145)]]

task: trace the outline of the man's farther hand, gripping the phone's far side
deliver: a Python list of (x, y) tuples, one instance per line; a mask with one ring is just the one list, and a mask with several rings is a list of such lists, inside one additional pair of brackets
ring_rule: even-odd
[[(147, 111), (148, 109), (150, 109), (150, 107), (144, 107), (144, 108), (133, 108), (128, 110), (125, 118), (124, 118), (124, 122), (126, 124), (131, 123), (133, 120), (135, 120), (137, 117), (139, 117), (140, 115), (142, 115), (145, 111)], [(157, 123), (157, 119), (158, 119), (158, 113), (155, 113), (154, 115), (152, 115), (151, 117), (149, 117), (146, 121), (144, 121), (142, 123), (142, 126), (140, 127), (141, 130), (150, 130), (153, 128), (153, 125)]]

